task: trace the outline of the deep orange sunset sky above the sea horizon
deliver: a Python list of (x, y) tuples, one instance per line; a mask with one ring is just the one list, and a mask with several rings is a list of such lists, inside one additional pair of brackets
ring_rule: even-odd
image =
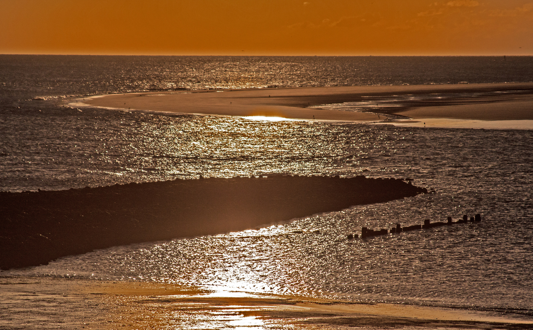
[(533, 0), (0, 0), (0, 53), (533, 55)]

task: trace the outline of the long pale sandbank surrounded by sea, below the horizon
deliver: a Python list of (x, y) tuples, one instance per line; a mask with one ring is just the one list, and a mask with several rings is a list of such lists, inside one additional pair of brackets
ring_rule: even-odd
[[(320, 108), (362, 102), (369, 97), (427, 98), (400, 101), (398, 107), (363, 111)], [(478, 121), (533, 120), (533, 83), (402, 86), (332, 86), (173, 91), (99, 95), (77, 99), (75, 106), (179, 112), (222, 116), (265, 116), (306, 120), (375, 122), (390, 119), (449, 118)], [(312, 107), (312, 108), (310, 108)], [(442, 120), (441, 120), (442, 122)], [(409, 124), (409, 123), (403, 123)], [(470, 122), (469, 125), (479, 125)], [(499, 123), (502, 124), (502, 123)], [(437, 124), (435, 124), (437, 125)], [(442, 126), (439, 126), (442, 127)]]

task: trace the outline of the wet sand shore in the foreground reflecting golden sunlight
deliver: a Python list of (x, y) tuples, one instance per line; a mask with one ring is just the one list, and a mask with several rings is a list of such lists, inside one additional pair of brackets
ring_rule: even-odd
[[(0, 273), (1, 274), (1, 273)], [(0, 328), (530, 329), (533, 319), (135, 281), (0, 277)]]

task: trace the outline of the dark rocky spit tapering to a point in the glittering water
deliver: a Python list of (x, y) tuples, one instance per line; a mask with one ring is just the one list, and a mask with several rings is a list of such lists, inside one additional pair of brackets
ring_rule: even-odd
[(0, 268), (114, 245), (214, 235), (427, 192), (401, 179), (209, 178), (0, 192)]

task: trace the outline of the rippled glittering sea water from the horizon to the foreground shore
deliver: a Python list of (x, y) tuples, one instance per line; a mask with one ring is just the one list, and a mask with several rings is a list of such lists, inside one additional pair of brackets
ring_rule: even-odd
[[(0, 190), (262, 173), (413, 178), (435, 194), (259, 230), (112, 247), (4, 275), (533, 315), (533, 131), (262, 122), (67, 106), (72, 95), (266, 86), (531, 82), (531, 57), (0, 55)], [(175, 156), (160, 158), (153, 156)], [(362, 226), (460, 224), (345, 240)], [(319, 229), (321, 234), (294, 234)]]

